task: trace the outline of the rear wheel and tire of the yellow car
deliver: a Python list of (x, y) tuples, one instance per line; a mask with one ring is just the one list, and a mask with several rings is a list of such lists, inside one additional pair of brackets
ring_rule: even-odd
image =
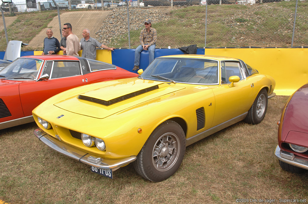
[(267, 92), (265, 89), (262, 89), (248, 111), (248, 115), (245, 118), (246, 123), (255, 125), (263, 120), (267, 109), (267, 100)]

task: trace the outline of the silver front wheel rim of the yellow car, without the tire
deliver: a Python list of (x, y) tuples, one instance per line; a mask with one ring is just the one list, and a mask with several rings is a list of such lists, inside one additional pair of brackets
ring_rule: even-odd
[(180, 141), (172, 132), (161, 135), (152, 151), (152, 163), (157, 171), (168, 171), (180, 155)]

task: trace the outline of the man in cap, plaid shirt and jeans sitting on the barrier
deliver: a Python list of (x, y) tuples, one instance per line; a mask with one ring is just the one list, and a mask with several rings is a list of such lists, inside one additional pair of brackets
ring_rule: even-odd
[(135, 50), (134, 70), (139, 69), (140, 53), (142, 50), (149, 51), (149, 64), (154, 60), (154, 51), (156, 47), (156, 29), (152, 28), (151, 20), (146, 18), (144, 20), (144, 29), (140, 32), (140, 44)]

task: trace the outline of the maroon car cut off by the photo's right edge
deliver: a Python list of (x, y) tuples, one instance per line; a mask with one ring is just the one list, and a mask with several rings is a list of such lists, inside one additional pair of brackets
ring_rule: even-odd
[(301, 173), (308, 169), (308, 83), (290, 96), (278, 124), (275, 155), (280, 167)]

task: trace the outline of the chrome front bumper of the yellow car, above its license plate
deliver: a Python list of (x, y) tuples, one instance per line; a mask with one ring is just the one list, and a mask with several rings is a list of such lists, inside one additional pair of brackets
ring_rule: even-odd
[(48, 147), (51, 147), (55, 151), (71, 157), (73, 159), (79, 160), (82, 163), (90, 165), (92, 167), (100, 168), (100, 169), (112, 169), (112, 171), (117, 170), (118, 168), (132, 163), (136, 160), (136, 156), (131, 156), (125, 159), (101, 159), (97, 158), (94, 155), (76, 149), (74, 147), (70, 147), (59, 140), (55, 139), (54, 137), (48, 135), (43, 130), (36, 129), (34, 130), (34, 135), (43, 143), (45, 143)]

